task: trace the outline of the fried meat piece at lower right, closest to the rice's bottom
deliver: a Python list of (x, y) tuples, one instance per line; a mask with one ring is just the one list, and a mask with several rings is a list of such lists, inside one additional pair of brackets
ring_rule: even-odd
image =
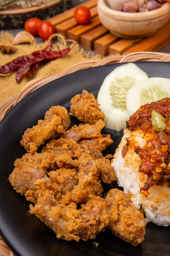
[(106, 200), (110, 218), (108, 229), (111, 229), (115, 236), (137, 246), (144, 240), (144, 215), (136, 209), (130, 196), (119, 189), (111, 189)]

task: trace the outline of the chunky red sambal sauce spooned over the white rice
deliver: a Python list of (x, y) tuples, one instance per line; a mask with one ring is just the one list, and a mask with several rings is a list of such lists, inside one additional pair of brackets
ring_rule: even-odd
[[(152, 111), (156, 111), (165, 118), (166, 128), (163, 131), (156, 131), (152, 127)], [(148, 175), (147, 181), (141, 190), (148, 191), (151, 186), (161, 185), (167, 182), (170, 187), (170, 98), (161, 99), (150, 104), (141, 106), (127, 121), (127, 128), (130, 130), (141, 129), (144, 133), (154, 135), (146, 141), (141, 148), (136, 146), (135, 152), (141, 158), (139, 171)], [(128, 147), (124, 148), (124, 153)], [(168, 166), (169, 165), (169, 166)]]

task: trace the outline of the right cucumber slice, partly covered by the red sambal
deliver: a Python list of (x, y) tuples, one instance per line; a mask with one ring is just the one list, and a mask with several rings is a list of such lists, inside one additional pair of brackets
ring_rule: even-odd
[(151, 77), (135, 83), (126, 94), (126, 107), (132, 115), (141, 105), (170, 97), (170, 79)]

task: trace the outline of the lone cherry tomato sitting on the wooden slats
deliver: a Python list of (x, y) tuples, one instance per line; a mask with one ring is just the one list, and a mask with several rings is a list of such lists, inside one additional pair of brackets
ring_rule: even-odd
[(74, 18), (79, 24), (87, 24), (91, 20), (90, 10), (85, 6), (78, 6), (74, 12)]

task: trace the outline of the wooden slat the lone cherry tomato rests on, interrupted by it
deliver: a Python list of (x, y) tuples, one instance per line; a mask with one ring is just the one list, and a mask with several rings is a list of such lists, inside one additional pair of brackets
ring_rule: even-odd
[[(91, 17), (94, 17), (97, 15), (97, 7), (93, 7), (90, 9), (90, 12), (91, 12)], [(60, 24), (56, 25), (55, 26), (55, 30), (57, 33), (62, 33), (66, 36), (66, 32), (75, 27), (76, 25), (78, 25), (77, 21), (75, 20), (74, 17), (72, 18), (69, 18), (63, 22), (61, 22)]]

